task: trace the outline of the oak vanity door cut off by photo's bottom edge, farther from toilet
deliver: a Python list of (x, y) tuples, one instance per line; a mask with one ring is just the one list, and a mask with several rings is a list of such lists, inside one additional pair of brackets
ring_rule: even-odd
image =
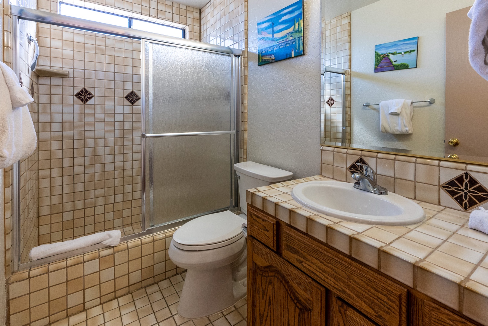
[(378, 326), (333, 293), (329, 294), (328, 312), (329, 326)]

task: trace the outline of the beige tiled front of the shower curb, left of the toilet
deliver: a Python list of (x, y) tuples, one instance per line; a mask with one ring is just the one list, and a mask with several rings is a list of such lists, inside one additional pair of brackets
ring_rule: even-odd
[(168, 257), (174, 231), (12, 275), (10, 325), (45, 326), (182, 273)]

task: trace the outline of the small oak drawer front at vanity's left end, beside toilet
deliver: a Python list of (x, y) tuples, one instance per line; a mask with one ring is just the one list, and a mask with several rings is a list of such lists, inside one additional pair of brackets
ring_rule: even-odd
[(247, 235), (276, 251), (276, 219), (247, 206)]

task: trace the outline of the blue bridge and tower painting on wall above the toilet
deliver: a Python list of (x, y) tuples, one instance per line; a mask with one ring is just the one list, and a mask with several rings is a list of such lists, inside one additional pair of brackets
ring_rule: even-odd
[(304, 54), (303, 0), (258, 21), (258, 64)]

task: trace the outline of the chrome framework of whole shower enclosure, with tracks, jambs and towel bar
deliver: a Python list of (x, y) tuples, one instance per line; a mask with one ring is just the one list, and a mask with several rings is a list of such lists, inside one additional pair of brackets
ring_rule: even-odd
[[(241, 60), (243, 55), (243, 50), (229, 48), (221, 45), (214, 45), (209, 43), (203, 43), (199, 41), (192, 41), (181, 38), (174, 38), (170, 36), (165, 36), (157, 33), (151, 33), (141, 30), (136, 30), (128, 27), (120, 27), (115, 25), (110, 25), (98, 21), (84, 20), (80, 18), (74, 18), (69, 16), (64, 16), (60, 14), (54, 14), (47, 11), (41, 11), (36, 9), (24, 8), (20, 6), (10, 5), (10, 15), (12, 17), (12, 69), (19, 76), (19, 20), (29, 20), (34, 22), (45, 23), (49, 25), (58, 25), (61, 27), (80, 29), (83, 31), (102, 33), (111, 36), (118, 36), (123, 38), (129, 38), (133, 40), (144, 41), (154, 41), (161, 42), (171, 46), (185, 47), (196, 49), (200, 51), (220, 53), (227, 56), (231, 56), (232, 60), (232, 87), (231, 87), (231, 105), (234, 110), (234, 125), (235, 130), (229, 131), (209, 131), (209, 132), (197, 132), (197, 133), (174, 133), (174, 134), (145, 134), (142, 132), (141, 138), (156, 138), (156, 137), (176, 137), (176, 136), (197, 136), (197, 135), (224, 135), (232, 134), (235, 135), (234, 143), (231, 144), (231, 150), (234, 153), (234, 161), (239, 162), (239, 148), (240, 148), (240, 113), (241, 113)], [(142, 67), (143, 68), (143, 67)], [(143, 69), (142, 69), (143, 71)], [(143, 78), (142, 73), (142, 78)], [(144, 89), (142, 88), (142, 93)], [(235, 94), (234, 94), (235, 93)], [(142, 94), (142, 115), (144, 113), (144, 94)], [(144, 120), (142, 119), (142, 130), (144, 130)], [(142, 144), (144, 142), (141, 142)], [(142, 146), (142, 171), (141, 171), (141, 188), (144, 189), (144, 148)], [(237, 157), (236, 157), (237, 156)], [(235, 163), (237, 163), (235, 162)], [(49, 264), (59, 260), (67, 259), (69, 257), (77, 256), (90, 251), (99, 250), (106, 248), (107, 245), (91, 245), (78, 250), (73, 250), (70, 252), (62, 253), (56, 256), (51, 256), (47, 258), (42, 258), (34, 262), (27, 262), (21, 264), (20, 262), (20, 161), (13, 164), (12, 169), (12, 272), (17, 272), (20, 270), (29, 269), (32, 267)], [(231, 184), (233, 197), (237, 198), (237, 183), (234, 176), (231, 176)], [(145, 207), (144, 207), (144, 194), (142, 193), (142, 214), (141, 214), (141, 226), (142, 232), (131, 234), (128, 236), (123, 236), (121, 238), (121, 243), (139, 239), (144, 236), (148, 236), (154, 233), (165, 231), (170, 228), (177, 227), (179, 222), (175, 222), (171, 225), (161, 225), (152, 228), (146, 228), (145, 225)], [(186, 222), (187, 220), (184, 220)]]

